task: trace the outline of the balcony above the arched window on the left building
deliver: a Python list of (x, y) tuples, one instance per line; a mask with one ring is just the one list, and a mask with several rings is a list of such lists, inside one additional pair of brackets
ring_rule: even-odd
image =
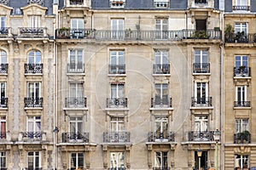
[(18, 37), (48, 37), (46, 33), (47, 28), (43, 27), (20, 27)]

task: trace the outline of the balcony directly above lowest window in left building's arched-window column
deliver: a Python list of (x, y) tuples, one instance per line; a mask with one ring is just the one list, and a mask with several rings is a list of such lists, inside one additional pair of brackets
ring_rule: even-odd
[(44, 132), (20, 132), (19, 141), (22, 140), (46, 140), (46, 133)]

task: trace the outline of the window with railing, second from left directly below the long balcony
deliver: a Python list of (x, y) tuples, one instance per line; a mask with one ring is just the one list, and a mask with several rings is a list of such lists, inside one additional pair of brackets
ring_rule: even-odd
[(109, 74), (125, 74), (125, 52), (111, 51)]

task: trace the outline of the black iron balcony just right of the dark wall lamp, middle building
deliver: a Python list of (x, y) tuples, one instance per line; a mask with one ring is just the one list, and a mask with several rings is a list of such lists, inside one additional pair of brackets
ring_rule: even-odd
[(89, 133), (62, 133), (63, 143), (89, 143)]

